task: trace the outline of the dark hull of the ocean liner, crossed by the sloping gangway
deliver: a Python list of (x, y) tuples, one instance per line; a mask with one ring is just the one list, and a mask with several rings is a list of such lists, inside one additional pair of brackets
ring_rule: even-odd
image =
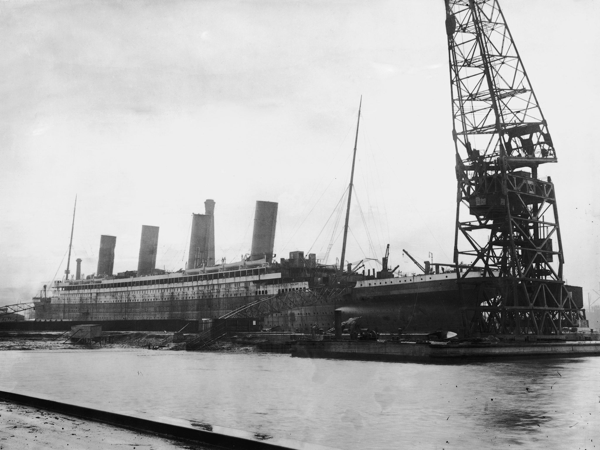
[[(256, 274), (253, 276), (256, 278)], [(35, 318), (52, 321), (217, 319), (261, 298), (308, 287), (305, 283), (281, 284), (276, 276), (279, 275), (260, 274), (262, 278), (252, 280), (252, 283), (270, 280), (272, 284), (257, 287), (251, 287), (254, 284), (236, 287), (236, 283), (243, 285), (249, 278), (223, 278), (222, 281), (215, 280), (220, 283), (214, 286), (219, 287), (216, 291), (201, 284), (206, 281), (191, 279), (178, 281), (179, 284), (173, 281), (164, 292), (159, 292), (152, 284), (137, 286), (137, 281), (133, 282), (134, 286), (116, 286), (116, 292), (115, 287), (102, 287), (104, 284), (95, 288), (95, 293), (85, 295), (67, 289), (62, 291), (62, 297), (40, 302), (35, 308)], [(478, 276), (473, 274), (473, 277)], [(286, 289), (282, 289), (284, 286)], [(247, 295), (253, 291), (260, 295)], [(195, 292), (202, 296), (194, 295)], [(219, 292), (219, 295), (206, 295), (208, 292)], [(465, 298), (469, 297), (467, 293)], [(263, 317), (262, 325), (298, 332), (309, 332), (314, 324), (329, 329), (334, 326), (334, 311), (340, 310), (343, 320), (361, 317), (362, 328), (380, 333), (397, 333), (398, 329), (431, 332), (440, 328), (460, 333), (470, 319), (465, 308), (472, 306), (461, 301), (455, 274), (373, 278), (357, 281), (349, 294)]]

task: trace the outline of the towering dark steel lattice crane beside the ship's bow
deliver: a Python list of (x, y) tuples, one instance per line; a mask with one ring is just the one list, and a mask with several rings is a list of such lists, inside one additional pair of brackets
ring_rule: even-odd
[[(544, 115), (497, 0), (445, 0), (456, 150), (454, 262), (470, 331), (560, 334), (583, 311), (563, 281)], [(554, 242), (554, 245), (553, 245)], [(468, 261), (468, 262), (467, 262)], [(481, 281), (466, 278), (482, 271)]]

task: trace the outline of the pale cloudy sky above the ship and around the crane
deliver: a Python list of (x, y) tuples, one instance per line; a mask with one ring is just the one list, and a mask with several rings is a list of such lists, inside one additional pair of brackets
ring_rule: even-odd
[[(556, 185), (565, 277), (587, 302), (600, 292), (600, 5), (502, 5), (559, 157), (540, 175)], [(217, 258), (248, 253), (254, 202), (269, 200), (278, 257), (332, 242), (334, 263), (361, 95), (347, 260), (389, 243), (404, 271), (403, 248), (451, 262), (444, 19), (441, 0), (0, 3), (0, 304), (64, 273), (76, 194), (71, 267), (80, 257), (85, 274), (101, 234), (117, 236), (115, 272), (136, 269), (142, 224), (160, 226), (157, 266), (184, 267), (209, 198)]]

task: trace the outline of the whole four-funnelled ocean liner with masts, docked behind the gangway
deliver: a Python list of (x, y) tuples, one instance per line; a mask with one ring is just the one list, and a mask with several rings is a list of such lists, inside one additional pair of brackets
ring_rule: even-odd
[[(423, 274), (394, 275), (388, 268), (388, 253), (382, 269), (365, 275), (358, 273), (360, 263), (344, 271), (350, 201), (358, 142), (360, 107), (352, 172), (348, 188), (346, 222), (340, 267), (317, 262), (316, 254), (293, 251), (289, 259), (274, 261), (275, 227), (278, 204), (256, 202), (251, 253), (239, 262), (215, 265), (213, 200), (206, 200), (205, 214), (193, 214), (190, 248), (185, 270), (166, 273), (155, 268), (158, 227), (142, 226), (137, 271), (113, 275), (115, 236), (100, 238), (97, 272), (81, 277), (77, 259), (76, 276), (69, 277), (69, 259), (63, 280), (55, 281), (50, 296), (35, 298), (35, 320), (131, 321), (131, 320), (203, 320), (226, 317), (245, 305), (256, 304), (290, 292), (323, 287), (346, 287), (340, 295), (316, 296), (314, 301), (278, 308), (257, 317), (257, 326), (283, 331), (307, 332), (313, 325), (334, 325), (334, 311), (342, 317), (361, 317), (361, 326), (377, 332), (436, 331), (444, 329), (460, 334), (469, 329), (473, 310), (479, 305), (466, 290), (476, 289), (476, 270), (461, 276), (460, 295), (455, 265), (427, 265)], [(73, 230), (71, 229), (71, 239)], [(441, 271), (445, 266), (448, 270)], [(435, 271), (432, 268), (435, 267)], [(458, 271), (458, 273), (457, 273)], [(567, 286), (578, 308), (583, 308), (581, 287)], [(465, 304), (473, 302), (473, 304)]]

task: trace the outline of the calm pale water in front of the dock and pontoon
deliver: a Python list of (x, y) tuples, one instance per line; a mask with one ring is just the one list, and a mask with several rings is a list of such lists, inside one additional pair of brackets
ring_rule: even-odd
[(600, 449), (600, 358), (425, 365), (13, 350), (0, 352), (0, 387), (344, 449)]

